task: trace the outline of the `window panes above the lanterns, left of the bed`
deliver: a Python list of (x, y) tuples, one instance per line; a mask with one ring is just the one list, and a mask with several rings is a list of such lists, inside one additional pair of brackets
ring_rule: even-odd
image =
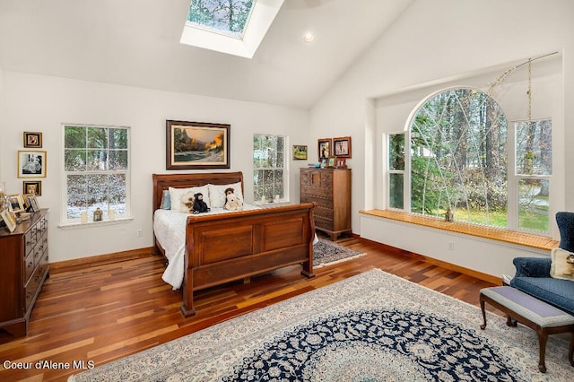
[[(64, 126), (64, 221), (80, 221), (96, 208), (114, 217), (129, 215), (129, 129)], [(90, 219), (91, 220), (91, 219)]]

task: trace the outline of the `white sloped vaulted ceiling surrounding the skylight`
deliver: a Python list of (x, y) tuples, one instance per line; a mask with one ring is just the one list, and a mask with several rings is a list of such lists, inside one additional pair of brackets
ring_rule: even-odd
[(180, 44), (189, 3), (1, 0), (0, 68), (308, 109), (413, 0), (285, 0), (251, 59)]

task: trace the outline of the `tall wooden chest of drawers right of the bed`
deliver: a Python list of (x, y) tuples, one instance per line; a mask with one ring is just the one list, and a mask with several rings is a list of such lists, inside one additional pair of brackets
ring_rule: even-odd
[(336, 240), (351, 232), (351, 169), (300, 169), (301, 203), (315, 202), (315, 228)]

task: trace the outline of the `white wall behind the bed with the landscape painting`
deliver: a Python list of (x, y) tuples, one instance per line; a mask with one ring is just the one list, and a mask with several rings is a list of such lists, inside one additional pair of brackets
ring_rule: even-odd
[[(22, 179), (16, 174), (22, 133), (42, 132), (41, 150), (48, 152), (48, 176), (41, 178), (39, 204), (50, 209), (50, 262), (152, 246), (152, 173), (183, 172), (165, 169), (166, 119), (231, 125), (229, 170), (243, 171), (248, 202), (253, 195), (249, 182), (253, 134), (287, 135), (290, 148), (309, 140), (304, 134), (308, 113), (300, 109), (13, 72), (4, 72), (4, 80), (2, 175), (9, 192), (22, 193)], [(60, 195), (65, 192), (61, 182), (63, 123), (131, 128), (133, 221), (76, 230), (57, 227)], [(299, 201), (299, 167), (300, 161), (291, 161), (294, 202)], [(143, 230), (143, 237), (137, 237), (138, 229)]]

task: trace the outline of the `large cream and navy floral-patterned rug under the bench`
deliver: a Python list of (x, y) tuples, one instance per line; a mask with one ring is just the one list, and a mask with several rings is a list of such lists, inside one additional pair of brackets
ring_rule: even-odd
[(71, 381), (572, 381), (568, 343), (378, 269), (72, 376)]

